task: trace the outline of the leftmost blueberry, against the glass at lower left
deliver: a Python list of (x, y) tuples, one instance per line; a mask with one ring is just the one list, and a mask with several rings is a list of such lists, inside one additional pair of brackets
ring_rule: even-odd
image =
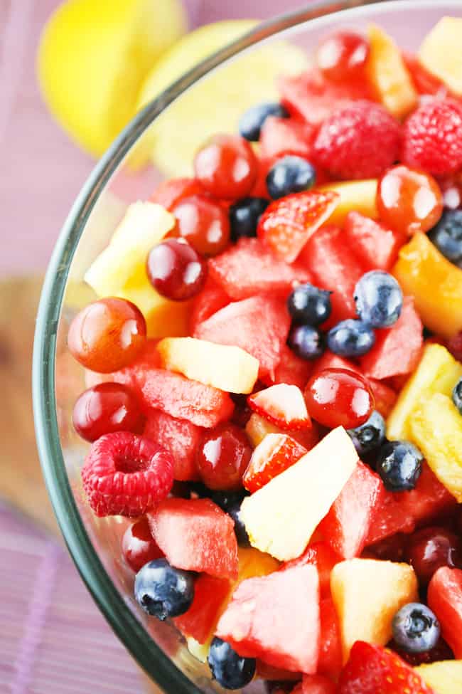
[(136, 602), (161, 621), (177, 617), (188, 611), (193, 602), (194, 580), (194, 574), (174, 569), (166, 559), (155, 559), (136, 574)]

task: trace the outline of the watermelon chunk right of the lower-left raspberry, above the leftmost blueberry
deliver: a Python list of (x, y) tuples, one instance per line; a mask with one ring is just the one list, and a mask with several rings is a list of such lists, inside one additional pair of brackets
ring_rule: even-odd
[(237, 579), (234, 521), (210, 499), (163, 500), (148, 520), (173, 567)]

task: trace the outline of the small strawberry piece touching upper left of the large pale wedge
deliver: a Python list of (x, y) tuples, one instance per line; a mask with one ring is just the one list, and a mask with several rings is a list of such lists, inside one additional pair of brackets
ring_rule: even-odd
[(262, 488), (308, 453), (286, 433), (269, 433), (252, 453), (242, 484), (250, 493)]

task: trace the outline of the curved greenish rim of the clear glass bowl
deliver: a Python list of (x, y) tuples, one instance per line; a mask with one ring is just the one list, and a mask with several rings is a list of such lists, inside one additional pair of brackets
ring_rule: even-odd
[(48, 264), (38, 307), (33, 347), (33, 414), (43, 476), (66, 545), (93, 599), (118, 638), (139, 666), (166, 692), (202, 694), (153, 639), (132, 613), (104, 569), (77, 510), (60, 448), (55, 401), (55, 346), (68, 273), (77, 243), (97, 199), (131, 147), (164, 108), (198, 80), (237, 53), (285, 29), (326, 16), (354, 16), (365, 6), (393, 11), (434, 5), (434, 0), (314, 0), (309, 6), (259, 23), (242, 38), (227, 44), (196, 65), (161, 95), (149, 102), (95, 165), (77, 195), (60, 231)]

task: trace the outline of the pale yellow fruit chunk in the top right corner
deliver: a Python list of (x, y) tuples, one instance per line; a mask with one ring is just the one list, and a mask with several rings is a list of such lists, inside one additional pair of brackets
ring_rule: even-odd
[(424, 38), (420, 62), (462, 96), (462, 17), (443, 17)]

